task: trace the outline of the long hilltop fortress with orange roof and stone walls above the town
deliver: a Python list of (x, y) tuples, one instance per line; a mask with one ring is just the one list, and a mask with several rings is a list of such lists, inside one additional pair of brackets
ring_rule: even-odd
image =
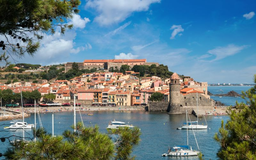
[[(65, 65), (65, 73), (72, 68), (73, 62), (68, 62)], [(77, 62), (79, 69), (110, 69), (120, 68), (122, 65), (128, 65), (132, 68), (134, 65), (152, 65), (156, 64), (159, 66), (159, 63), (156, 62), (147, 62), (146, 59), (131, 59), (131, 60), (84, 60), (84, 62)]]

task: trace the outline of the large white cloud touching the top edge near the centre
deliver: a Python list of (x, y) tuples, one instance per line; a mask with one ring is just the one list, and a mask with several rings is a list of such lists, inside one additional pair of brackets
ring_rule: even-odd
[(95, 8), (100, 13), (94, 21), (107, 26), (124, 21), (132, 12), (148, 11), (149, 5), (161, 0), (89, 0), (85, 8)]

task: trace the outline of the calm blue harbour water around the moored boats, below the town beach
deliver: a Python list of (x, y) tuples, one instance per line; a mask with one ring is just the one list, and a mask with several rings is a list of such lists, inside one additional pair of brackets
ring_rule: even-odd
[[(162, 157), (163, 153), (167, 153), (168, 146), (186, 145), (187, 131), (176, 130), (177, 127), (186, 121), (186, 115), (168, 115), (165, 112), (145, 112), (145, 111), (95, 111), (93, 116), (85, 115), (86, 112), (81, 112), (84, 124), (91, 126), (98, 124), (100, 132), (106, 132), (106, 127), (110, 120), (123, 121), (141, 129), (141, 141), (135, 147), (133, 155), (136, 159), (188, 159), (188, 157), (174, 158)], [(78, 114), (78, 113), (77, 113)], [(33, 123), (34, 116), (26, 118), (28, 123)], [(224, 121), (228, 116), (221, 116)], [(195, 116), (190, 115), (191, 121), (196, 120)], [(206, 159), (216, 159), (216, 152), (218, 151), (219, 144), (213, 140), (213, 135), (220, 127), (221, 119), (214, 118), (213, 116), (206, 117), (209, 128), (207, 130), (195, 130), (197, 142), (200, 150), (205, 155)], [(41, 114), (43, 126), (48, 132), (52, 132), (52, 113)], [(76, 121), (80, 121), (80, 116), (76, 116)], [(0, 124), (8, 124), (10, 121), (1, 121)], [(204, 119), (199, 123), (205, 124)], [(57, 112), (54, 113), (54, 134), (59, 135), (64, 130), (70, 129), (73, 124), (72, 112)], [(1, 126), (3, 127), (3, 126)], [(2, 129), (1, 129), (2, 130)], [(71, 130), (71, 129), (70, 129)], [(31, 136), (31, 130), (26, 130), (28, 133), (25, 136)], [(7, 134), (7, 135), (5, 135)], [(10, 136), (13, 132), (0, 132), (0, 136)], [(30, 135), (29, 135), (30, 134)], [(193, 149), (197, 149), (196, 141), (191, 130), (189, 134), (189, 145)], [(15, 132), (15, 135), (22, 136), (22, 130)], [(4, 152), (8, 146), (7, 141), (1, 143), (0, 152)], [(189, 159), (198, 159), (197, 157), (189, 157)]]

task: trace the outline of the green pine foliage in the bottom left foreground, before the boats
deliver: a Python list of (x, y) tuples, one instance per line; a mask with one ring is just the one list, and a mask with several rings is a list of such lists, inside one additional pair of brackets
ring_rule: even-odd
[(76, 132), (66, 130), (63, 136), (57, 137), (52, 137), (45, 129), (37, 129), (33, 130), (36, 142), (16, 141), (4, 156), (6, 159), (133, 159), (133, 147), (140, 141), (139, 128), (108, 132), (111, 135), (100, 133), (97, 125), (83, 127), (81, 122), (76, 124)]

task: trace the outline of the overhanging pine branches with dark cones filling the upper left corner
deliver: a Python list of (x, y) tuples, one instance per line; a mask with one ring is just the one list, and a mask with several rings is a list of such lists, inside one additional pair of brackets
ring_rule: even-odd
[[(44, 33), (61, 34), (72, 28), (64, 22), (79, 12), (80, 0), (1, 0), (0, 53), (1, 61), (8, 64), (8, 54), (18, 57), (34, 55)], [(3, 38), (4, 37), (4, 38)]]

